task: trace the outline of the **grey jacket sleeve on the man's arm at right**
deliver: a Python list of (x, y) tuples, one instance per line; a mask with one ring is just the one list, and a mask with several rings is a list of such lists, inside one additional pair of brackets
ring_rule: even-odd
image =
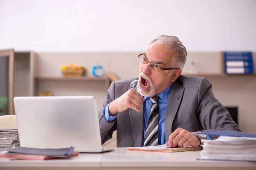
[(233, 121), (230, 113), (224, 108), (212, 92), (212, 84), (208, 79), (201, 79), (198, 89), (197, 116), (203, 131), (234, 130), (241, 131)]

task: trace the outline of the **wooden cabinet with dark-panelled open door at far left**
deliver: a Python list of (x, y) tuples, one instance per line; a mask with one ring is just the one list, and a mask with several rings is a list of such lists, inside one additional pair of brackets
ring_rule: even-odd
[(0, 50), (0, 115), (15, 114), (15, 96), (34, 94), (34, 53)]

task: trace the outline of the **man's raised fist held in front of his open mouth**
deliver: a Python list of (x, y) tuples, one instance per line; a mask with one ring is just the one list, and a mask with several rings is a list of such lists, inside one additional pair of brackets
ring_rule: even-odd
[(129, 89), (122, 96), (112, 101), (108, 106), (108, 113), (110, 116), (116, 115), (118, 112), (125, 111), (128, 108), (132, 108), (137, 112), (142, 109), (141, 103), (145, 99), (140, 96), (140, 94), (134, 89)]

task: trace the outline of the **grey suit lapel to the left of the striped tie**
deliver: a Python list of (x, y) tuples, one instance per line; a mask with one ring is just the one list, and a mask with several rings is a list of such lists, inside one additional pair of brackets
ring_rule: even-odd
[(143, 138), (143, 109), (141, 112), (137, 112), (134, 109), (129, 108), (129, 116), (134, 147), (140, 147)]

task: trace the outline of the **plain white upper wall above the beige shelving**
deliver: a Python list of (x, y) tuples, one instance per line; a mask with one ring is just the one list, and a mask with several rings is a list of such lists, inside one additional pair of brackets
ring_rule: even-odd
[(0, 0), (0, 49), (144, 51), (160, 34), (188, 51), (256, 51), (256, 0)]

